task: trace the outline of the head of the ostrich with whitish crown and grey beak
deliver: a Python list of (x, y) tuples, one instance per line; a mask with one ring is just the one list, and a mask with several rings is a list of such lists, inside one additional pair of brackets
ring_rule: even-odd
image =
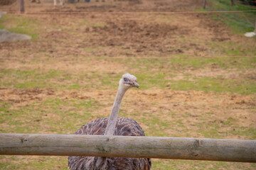
[(131, 75), (129, 73), (126, 73), (122, 75), (122, 79), (119, 81), (119, 86), (124, 89), (129, 89), (131, 87), (139, 87), (139, 84), (137, 84), (137, 77), (134, 77), (134, 75)]

